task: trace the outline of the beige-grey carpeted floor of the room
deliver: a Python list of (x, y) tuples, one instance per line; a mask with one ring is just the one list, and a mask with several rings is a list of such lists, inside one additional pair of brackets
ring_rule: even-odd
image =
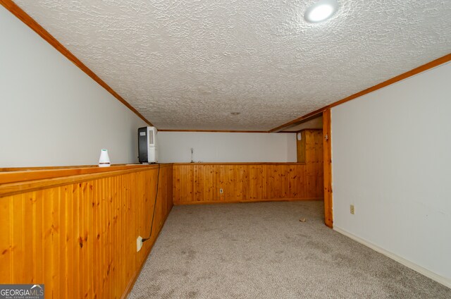
[(322, 202), (173, 207), (129, 298), (451, 298), (322, 213)]

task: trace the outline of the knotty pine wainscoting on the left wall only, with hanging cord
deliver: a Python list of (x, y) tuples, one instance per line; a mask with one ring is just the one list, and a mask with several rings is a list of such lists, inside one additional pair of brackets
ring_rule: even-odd
[(0, 283), (44, 283), (45, 298), (126, 297), (172, 208), (172, 164), (73, 173), (0, 172)]

